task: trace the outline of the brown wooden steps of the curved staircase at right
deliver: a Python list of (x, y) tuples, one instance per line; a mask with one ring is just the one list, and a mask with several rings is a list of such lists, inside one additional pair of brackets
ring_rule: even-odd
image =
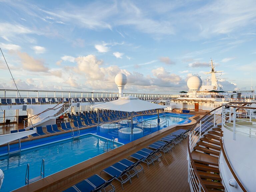
[(191, 153), (196, 170), (208, 192), (224, 190), (219, 175), (218, 156), (221, 150), (219, 142), (221, 129), (219, 126), (221, 125), (208, 131), (204, 137), (200, 138)]

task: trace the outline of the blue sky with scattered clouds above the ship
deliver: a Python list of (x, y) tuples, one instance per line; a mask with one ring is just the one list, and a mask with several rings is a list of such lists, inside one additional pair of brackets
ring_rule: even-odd
[[(224, 90), (255, 89), (256, 1), (5, 1), (0, 47), (19, 89), (177, 94), (212, 58)], [(15, 88), (0, 56), (0, 88)]]

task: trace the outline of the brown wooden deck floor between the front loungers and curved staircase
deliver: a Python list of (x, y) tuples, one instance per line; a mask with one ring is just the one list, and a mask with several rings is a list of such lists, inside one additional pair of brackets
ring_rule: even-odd
[[(140, 172), (139, 178), (133, 177), (131, 184), (125, 183), (124, 190), (122, 190), (120, 182), (114, 180), (112, 184), (117, 192), (189, 192), (186, 154), (187, 142), (184, 140), (173, 151), (163, 155), (163, 159), (160, 159), (155, 165), (151, 164), (149, 169), (145, 163), (142, 163), (145, 173)], [(129, 159), (132, 160), (132, 158)], [(104, 179), (109, 179), (104, 172), (101, 176)]]

